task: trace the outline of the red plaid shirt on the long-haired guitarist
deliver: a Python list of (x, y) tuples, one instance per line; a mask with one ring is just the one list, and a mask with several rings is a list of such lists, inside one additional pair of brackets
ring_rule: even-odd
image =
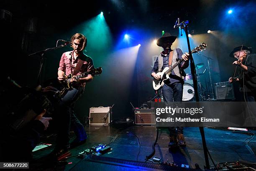
[[(77, 66), (77, 62), (79, 61), (79, 56), (74, 59), (74, 51), (68, 51), (62, 54), (61, 60), (59, 61), (59, 68), (58, 70), (64, 71), (66, 75), (73, 74), (75, 67)], [(84, 72), (90, 71), (94, 68), (92, 58), (85, 55), (87, 58), (84, 61), (80, 71), (76, 75), (80, 75)], [(72, 60), (71, 60), (72, 59)], [(78, 86), (85, 86), (84, 83), (77, 84)]]

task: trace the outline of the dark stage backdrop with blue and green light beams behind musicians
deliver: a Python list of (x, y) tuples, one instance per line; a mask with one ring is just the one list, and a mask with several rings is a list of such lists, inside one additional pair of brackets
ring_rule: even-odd
[[(40, 56), (28, 54), (54, 47), (58, 39), (69, 40), (74, 33), (82, 33), (82, 27), (90, 27), (82, 23), (102, 11), (111, 41), (98, 46), (97, 35), (85, 35), (88, 38), (86, 53), (92, 56), (95, 67), (102, 66), (103, 73), (87, 84), (85, 94), (77, 102), (77, 115), (82, 119), (89, 115), (90, 107), (115, 104), (114, 118), (132, 117), (129, 102), (140, 107), (154, 97), (150, 77), (152, 56), (158, 55), (161, 48), (153, 51), (148, 42), (161, 37), (162, 30), (179, 36), (179, 31), (173, 28), (175, 21), (177, 18), (189, 20), (189, 33), (195, 35), (192, 48), (207, 43), (203, 55), (212, 58), (213, 82), (228, 81), (234, 71), (234, 59), (228, 57), (230, 51), (241, 44), (256, 47), (255, 7), (254, 1), (247, 0), (93, 0), (90, 3), (4, 0), (1, 9), (8, 10), (12, 17), (10, 20), (1, 12), (1, 73), (3, 78), (8, 75), (21, 86), (35, 87)], [(230, 8), (233, 14), (227, 15)], [(214, 34), (207, 34), (207, 30), (214, 31)], [(116, 49), (120, 37), (126, 32), (134, 33), (129, 47), (141, 43), (135, 61), (130, 61), (129, 55), (125, 56)], [(175, 45), (183, 52), (187, 51), (184, 38)], [(61, 54), (71, 50), (64, 47), (44, 54), (43, 83), (56, 79)], [(196, 54), (194, 58), (196, 64), (205, 64), (199, 71), (202, 73), (207, 60)], [(189, 69), (186, 72), (189, 73)]]

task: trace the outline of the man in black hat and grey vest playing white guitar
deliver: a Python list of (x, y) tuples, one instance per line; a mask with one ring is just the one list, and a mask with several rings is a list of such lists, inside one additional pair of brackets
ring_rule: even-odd
[[(151, 71), (152, 77), (160, 79), (160, 76), (156, 74), (157, 72), (165, 67), (174, 65), (179, 59), (184, 59), (184, 62), (172, 70), (172, 73), (169, 75), (170, 79), (164, 82), (165, 84), (162, 87), (162, 94), (165, 102), (182, 101), (183, 84), (186, 76), (184, 69), (189, 66), (189, 54), (183, 54), (182, 50), (179, 48), (171, 49), (172, 43), (176, 38), (177, 36), (171, 36), (170, 33), (164, 33), (164, 35), (157, 40), (157, 46), (164, 48), (164, 51), (157, 57)], [(169, 147), (176, 147), (177, 144), (186, 146), (183, 127), (169, 127), (168, 130), (170, 131)]]

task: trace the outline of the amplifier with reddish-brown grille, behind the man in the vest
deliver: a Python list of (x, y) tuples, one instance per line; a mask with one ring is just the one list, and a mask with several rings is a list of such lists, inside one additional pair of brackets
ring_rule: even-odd
[(137, 109), (137, 112), (134, 111), (135, 124), (156, 124), (154, 109)]

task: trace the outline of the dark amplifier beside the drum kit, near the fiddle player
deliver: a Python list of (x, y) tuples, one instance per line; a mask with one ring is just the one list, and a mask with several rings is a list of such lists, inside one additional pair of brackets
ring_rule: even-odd
[(220, 82), (215, 84), (215, 94), (217, 100), (234, 100), (235, 93), (233, 84), (230, 82)]

